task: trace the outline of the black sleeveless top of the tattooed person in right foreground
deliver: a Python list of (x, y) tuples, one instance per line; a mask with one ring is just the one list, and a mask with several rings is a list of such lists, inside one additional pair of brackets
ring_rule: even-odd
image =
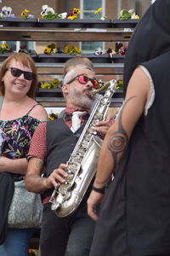
[(155, 101), (105, 195), (90, 256), (170, 255), (170, 52), (142, 65)]

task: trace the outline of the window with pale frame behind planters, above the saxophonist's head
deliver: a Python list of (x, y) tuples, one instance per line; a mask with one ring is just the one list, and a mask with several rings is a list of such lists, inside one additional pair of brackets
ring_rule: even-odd
[[(102, 12), (95, 15), (95, 10), (102, 8)], [(80, 9), (82, 10), (80, 18), (81, 19), (99, 19), (105, 15), (105, 0), (81, 0)], [(80, 43), (82, 53), (94, 53), (97, 48), (104, 49), (105, 43), (103, 42), (82, 42)]]

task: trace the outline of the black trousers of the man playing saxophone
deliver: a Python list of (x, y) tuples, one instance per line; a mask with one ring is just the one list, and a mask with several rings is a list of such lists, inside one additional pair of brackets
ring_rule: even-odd
[(94, 221), (82, 201), (71, 216), (59, 218), (44, 205), (40, 236), (41, 256), (88, 256), (94, 236)]

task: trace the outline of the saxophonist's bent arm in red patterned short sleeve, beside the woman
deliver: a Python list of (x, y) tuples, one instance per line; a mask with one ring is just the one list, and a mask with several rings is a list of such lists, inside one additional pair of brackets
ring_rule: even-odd
[(42, 123), (38, 125), (33, 137), (31, 138), (31, 146), (28, 156), (31, 157), (28, 161), (26, 172), (26, 189), (35, 193), (42, 193), (47, 189), (59, 186), (65, 182), (66, 165), (61, 164), (49, 177), (42, 177), (44, 169), (44, 159), (47, 154), (46, 147), (46, 125)]

